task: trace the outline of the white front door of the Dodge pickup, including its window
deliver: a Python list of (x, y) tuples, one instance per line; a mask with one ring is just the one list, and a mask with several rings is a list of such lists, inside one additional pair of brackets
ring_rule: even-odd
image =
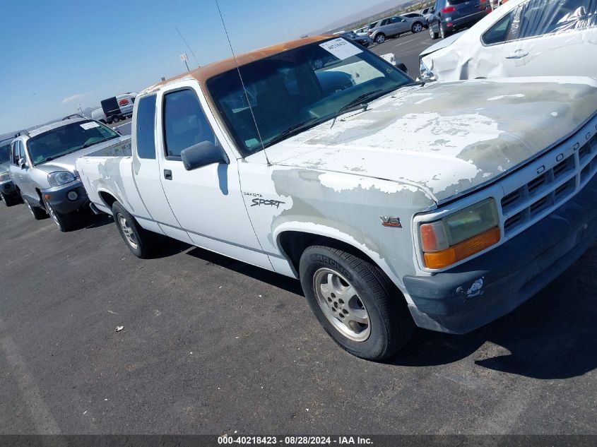
[(158, 97), (160, 180), (167, 201), (194, 244), (271, 269), (249, 220), (237, 160), (230, 148), (224, 147), (230, 164), (213, 163), (191, 171), (182, 165), (182, 150), (203, 141), (215, 145), (223, 141), (211, 114), (208, 118), (203, 112), (207, 105), (196, 83), (183, 85)]

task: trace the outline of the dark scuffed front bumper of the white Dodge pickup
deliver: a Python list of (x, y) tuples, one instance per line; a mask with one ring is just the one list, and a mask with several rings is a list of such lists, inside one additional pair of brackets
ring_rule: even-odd
[(574, 198), (496, 249), (437, 275), (407, 275), (417, 326), (467, 333), (516, 309), (597, 239), (597, 176)]

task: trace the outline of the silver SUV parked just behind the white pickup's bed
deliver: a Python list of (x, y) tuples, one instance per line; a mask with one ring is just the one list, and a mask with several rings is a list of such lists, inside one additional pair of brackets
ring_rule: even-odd
[(9, 172), (35, 219), (49, 215), (61, 231), (69, 231), (78, 212), (89, 205), (75, 172), (76, 158), (106, 147), (117, 152), (126, 145), (130, 137), (97, 121), (65, 119), (21, 132), (11, 143)]

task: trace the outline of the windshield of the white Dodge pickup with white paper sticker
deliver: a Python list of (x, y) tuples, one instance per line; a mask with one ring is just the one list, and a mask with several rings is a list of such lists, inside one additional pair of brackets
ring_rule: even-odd
[(347, 106), (413, 82), (341, 37), (281, 52), (239, 70), (246, 92), (236, 68), (210, 78), (207, 88), (244, 155), (261, 150), (261, 142), (267, 147), (333, 119)]

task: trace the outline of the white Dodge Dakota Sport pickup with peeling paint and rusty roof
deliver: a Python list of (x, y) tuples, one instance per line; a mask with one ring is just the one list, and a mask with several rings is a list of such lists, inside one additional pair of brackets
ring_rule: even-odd
[(592, 78), (421, 85), (309, 37), (147, 88), (131, 153), (76, 167), (136, 256), (157, 233), (299, 278), (341, 347), (383, 359), (415, 325), (507, 314), (593, 244), (596, 134)]

